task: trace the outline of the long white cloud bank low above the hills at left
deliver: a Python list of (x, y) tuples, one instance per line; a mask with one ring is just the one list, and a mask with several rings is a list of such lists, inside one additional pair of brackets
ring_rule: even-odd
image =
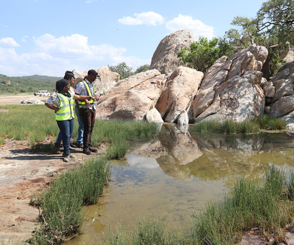
[(150, 63), (149, 59), (125, 56), (125, 48), (108, 44), (90, 46), (88, 37), (79, 34), (60, 37), (45, 34), (34, 40), (36, 46), (26, 53), (18, 53), (11, 47), (0, 47), (0, 73), (10, 76), (62, 76), (67, 70), (84, 72), (120, 62), (126, 62), (133, 68)]

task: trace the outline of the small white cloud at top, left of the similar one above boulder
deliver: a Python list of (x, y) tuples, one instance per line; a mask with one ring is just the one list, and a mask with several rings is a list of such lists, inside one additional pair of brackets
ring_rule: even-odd
[(163, 24), (164, 18), (155, 12), (135, 13), (135, 18), (126, 16), (119, 19), (118, 22), (123, 25), (160, 25)]

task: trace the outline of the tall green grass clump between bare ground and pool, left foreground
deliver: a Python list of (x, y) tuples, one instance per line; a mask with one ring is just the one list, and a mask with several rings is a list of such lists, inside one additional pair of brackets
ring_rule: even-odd
[(110, 174), (106, 158), (92, 159), (78, 169), (54, 179), (50, 188), (31, 203), (42, 208), (41, 227), (33, 233), (32, 244), (61, 244), (80, 232), (82, 206), (98, 202)]

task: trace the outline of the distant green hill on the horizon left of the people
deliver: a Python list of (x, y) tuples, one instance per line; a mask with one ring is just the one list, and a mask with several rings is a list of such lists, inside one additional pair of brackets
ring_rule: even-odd
[(0, 94), (7, 93), (34, 93), (37, 90), (55, 90), (55, 82), (62, 77), (31, 75), (6, 76), (0, 74)]

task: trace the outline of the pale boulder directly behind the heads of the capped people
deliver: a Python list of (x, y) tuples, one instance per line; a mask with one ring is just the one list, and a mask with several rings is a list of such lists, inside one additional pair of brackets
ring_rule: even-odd
[[(74, 74), (74, 86), (81, 82), (84, 77), (88, 74), (88, 71), (85, 72), (78, 72), (76, 70), (73, 70)], [(96, 91), (99, 91), (101, 94), (106, 93), (108, 90), (110, 90), (112, 87), (116, 85), (116, 83), (120, 80), (119, 73), (111, 72), (109, 71), (109, 68), (107, 66), (102, 66), (100, 69), (95, 70), (100, 77), (98, 77), (95, 81), (95, 89)]]

